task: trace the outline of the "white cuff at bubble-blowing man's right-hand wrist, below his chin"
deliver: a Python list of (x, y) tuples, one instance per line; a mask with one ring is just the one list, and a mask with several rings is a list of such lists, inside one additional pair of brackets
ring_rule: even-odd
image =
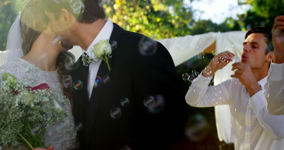
[(262, 90), (258, 91), (252, 97), (250, 97), (249, 105), (255, 113), (258, 113), (263, 107), (265, 107), (264, 95), (262, 94)]

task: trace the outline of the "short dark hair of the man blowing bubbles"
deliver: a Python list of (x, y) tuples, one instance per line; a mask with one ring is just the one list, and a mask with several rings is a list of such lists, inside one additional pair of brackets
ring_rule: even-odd
[(250, 35), (250, 34), (253, 34), (253, 33), (262, 33), (265, 37), (265, 41), (266, 41), (266, 44), (267, 44), (267, 47), (265, 49), (265, 55), (268, 54), (269, 52), (272, 52), (274, 51), (274, 47), (273, 47), (273, 44), (272, 44), (272, 34), (271, 34), (271, 30), (269, 30), (267, 27), (263, 27), (263, 26), (255, 26), (253, 28), (250, 28), (247, 33), (246, 33), (246, 36), (245, 36), (245, 39), (247, 39), (247, 37)]

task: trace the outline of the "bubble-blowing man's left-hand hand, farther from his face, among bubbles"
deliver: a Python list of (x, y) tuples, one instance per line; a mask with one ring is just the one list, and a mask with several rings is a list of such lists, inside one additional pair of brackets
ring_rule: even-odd
[(202, 73), (202, 76), (204, 77), (210, 77), (213, 76), (214, 73), (219, 70), (224, 68), (229, 62), (233, 61), (231, 58), (234, 57), (235, 54), (229, 52), (229, 51), (225, 51), (222, 52), (218, 55), (216, 55), (215, 57), (213, 57), (210, 61), (210, 63), (208, 64), (208, 66), (211, 67), (211, 73), (210, 74), (206, 74), (204, 71)]

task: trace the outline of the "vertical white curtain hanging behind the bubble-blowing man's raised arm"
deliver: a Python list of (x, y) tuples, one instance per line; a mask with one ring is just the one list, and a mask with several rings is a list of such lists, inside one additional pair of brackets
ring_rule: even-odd
[[(245, 41), (245, 34), (246, 32), (242, 31), (219, 33), (216, 39), (216, 53), (230, 51), (236, 55), (235, 57), (241, 60), (241, 51), (243, 49), (243, 42)], [(230, 75), (234, 74), (234, 72), (231, 71), (232, 64), (234, 62), (235, 60), (215, 73), (215, 85), (231, 79)], [(233, 142), (233, 135), (231, 131), (231, 113), (229, 105), (220, 105), (219, 107), (215, 106), (215, 119), (219, 140), (224, 140), (226, 143)]]

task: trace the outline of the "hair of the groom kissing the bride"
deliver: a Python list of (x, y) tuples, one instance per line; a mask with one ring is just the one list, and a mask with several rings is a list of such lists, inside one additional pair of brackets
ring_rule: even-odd
[[(74, 13), (70, 7), (71, 1), (83, 2), (85, 5), (84, 12), (81, 14)], [(106, 18), (104, 8), (100, 5), (101, 0), (43, 0), (43, 2), (45, 3), (45, 11), (55, 14), (56, 19), (59, 19), (61, 9), (71, 12), (80, 23), (91, 24), (99, 18)]]

